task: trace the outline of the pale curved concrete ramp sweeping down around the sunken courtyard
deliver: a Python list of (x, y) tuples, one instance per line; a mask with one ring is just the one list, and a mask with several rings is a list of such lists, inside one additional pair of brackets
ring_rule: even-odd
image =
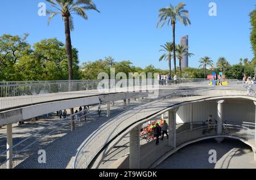
[[(205, 92), (207, 92), (208, 95), (204, 95)], [(114, 145), (116, 145), (127, 133), (129, 133), (132, 128), (148, 121), (148, 118), (166, 112), (167, 110), (171, 109), (172, 106), (179, 106), (180, 104), (184, 105), (186, 103), (191, 103), (192, 101), (217, 100), (220, 98), (249, 98), (251, 100), (256, 100), (255, 97), (224, 96), (239, 93), (240, 95), (245, 95), (244, 91), (236, 92), (236, 89), (226, 91), (209, 91), (208, 89), (205, 92), (197, 92), (197, 96), (195, 96), (195, 92), (189, 91), (181, 94), (180, 97), (175, 95), (174, 97), (166, 98), (165, 100), (162, 99), (159, 101), (149, 102), (148, 104), (141, 106), (141, 108), (138, 107), (133, 111), (131, 110), (131, 112), (127, 112), (120, 115), (120, 117), (112, 119), (104, 125), (104, 129), (108, 131), (97, 130), (93, 135), (85, 140), (85, 142), (82, 144), (80, 152), (77, 153), (75, 168), (85, 168), (90, 164), (94, 156), (96, 156), (96, 153), (99, 153), (101, 148), (108, 145), (108, 147), (105, 147), (104, 151), (101, 152), (100, 156), (98, 157), (101, 160), (104, 159), (104, 157), (108, 155), (110, 149), (112, 149)], [(96, 161), (96, 164), (98, 163), (99, 162)]]

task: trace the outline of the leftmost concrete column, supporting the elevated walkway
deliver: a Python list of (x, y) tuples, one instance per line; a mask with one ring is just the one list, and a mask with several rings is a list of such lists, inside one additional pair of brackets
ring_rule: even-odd
[[(7, 125), (7, 144), (6, 144), (6, 148), (9, 149), (10, 147), (13, 146), (13, 125), (9, 124)], [(10, 158), (7, 161), (7, 169), (13, 169), (13, 159), (11, 158), (11, 156), (13, 155), (13, 150), (7, 151), (7, 155), (6, 158)]]

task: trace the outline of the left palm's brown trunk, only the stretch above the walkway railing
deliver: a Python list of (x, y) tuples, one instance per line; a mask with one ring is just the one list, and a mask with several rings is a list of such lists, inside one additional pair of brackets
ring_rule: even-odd
[(70, 37), (69, 17), (65, 19), (65, 36), (66, 36), (66, 53), (68, 57), (68, 80), (73, 80), (73, 59), (72, 59), (72, 45)]

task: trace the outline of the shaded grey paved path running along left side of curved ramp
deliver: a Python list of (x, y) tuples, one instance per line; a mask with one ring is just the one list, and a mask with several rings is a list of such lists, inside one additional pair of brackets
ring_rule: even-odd
[(110, 117), (106, 117), (106, 112), (102, 111), (102, 117), (98, 118), (97, 113), (90, 114), (86, 122), (81, 122), (79, 127), (76, 127), (75, 131), (64, 134), (61, 138), (55, 140), (51, 144), (47, 145), (46, 151), (46, 164), (38, 163), (38, 155), (33, 155), (16, 166), (20, 169), (65, 169), (72, 168), (73, 159), (76, 155), (77, 149), (90, 134), (92, 134), (97, 128), (108, 121), (110, 118), (122, 113), (123, 111), (143, 104), (146, 100), (131, 101), (130, 105), (117, 105), (112, 106)]

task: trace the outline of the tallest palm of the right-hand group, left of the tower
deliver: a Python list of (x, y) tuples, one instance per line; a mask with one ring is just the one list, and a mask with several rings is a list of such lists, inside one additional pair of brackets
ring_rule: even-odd
[[(183, 2), (180, 2), (179, 5), (177, 5), (176, 7), (172, 6), (170, 4), (169, 7), (166, 8), (161, 8), (159, 10), (159, 22), (157, 27), (159, 26), (160, 23), (162, 23), (161, 27), (164, 26), (164, 24), (167, 23), (167, 25), (169, 26), (170, 24), (172, 25), (172, 36), (173, 36), (173, 42), (172, 44), (175, 44), (175, 25), (177, 20), (179, 20), (183, 25), (187, 26), (189, 24), (191, 24), (190, 20), (189, 20), (189, 13), (187, 10), (184, 9), (185, 4)], [(176, 50), (175, 50), (175, 46), (173, 47), (173, 53), (174, 53), (174, 68), (175, 68), (175, 74), (177, 73), (176, 70)]]

